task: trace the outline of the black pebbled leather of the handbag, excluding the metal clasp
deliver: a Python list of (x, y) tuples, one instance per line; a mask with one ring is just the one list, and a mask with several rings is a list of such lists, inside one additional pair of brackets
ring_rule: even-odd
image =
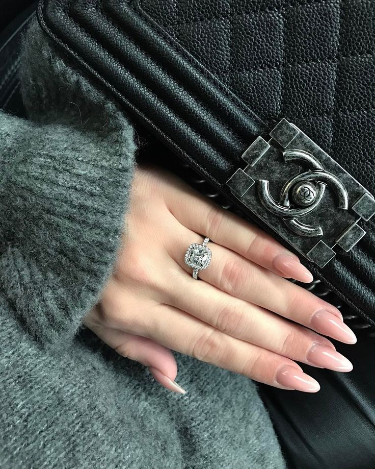
[[(370, 0), (42, 0), (42, 28), (174, 154), (225, 186), (285, 117), (375, 194)], [(254, 220), (288, 249), (261, 220)], [(348, 253), (301, 261), (375, 325), (375, 222)], [(291, 249), (292, 250), (292, 249)]]

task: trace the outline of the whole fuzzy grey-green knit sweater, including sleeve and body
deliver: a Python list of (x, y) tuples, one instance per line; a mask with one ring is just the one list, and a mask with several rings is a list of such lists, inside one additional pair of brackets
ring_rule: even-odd
[(284, 467), (251, 380), (175, 352), (176, 394), (82, 326), (126, 230), (133, 129), (36, 20), (20, 79), (28, 119), (0, 113), (0, 466)]

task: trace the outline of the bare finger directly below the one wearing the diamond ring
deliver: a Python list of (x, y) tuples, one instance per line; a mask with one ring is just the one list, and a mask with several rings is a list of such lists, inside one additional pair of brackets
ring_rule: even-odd
[[(215, 252), (220, 247), (216, 245)], [(214, 251), (213, 244), (211, 248)], [(222, 249), (224, 256), (231, 255), (225, 253), (225, 248)], [(184, 266), (187, 267), (185, 264)], [(203, 272), (204, 270), (200, 274)], [(197, 282), (190, 276), (176, 276), (168, 300), (172, 306), (189, 312), (232, 337), (246, 340), (292, 360), (336, 371), (351, 371), (353, 368), (349, 360), (334, 351), (334, 345), (326, 338), (259, 305), (235, 298), (216, 286)]]

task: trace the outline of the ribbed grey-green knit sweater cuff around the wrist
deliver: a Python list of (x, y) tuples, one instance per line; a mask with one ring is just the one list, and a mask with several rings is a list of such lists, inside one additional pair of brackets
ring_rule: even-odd
[(133, 129), (36, 20), (23, 38), (28, 119), (0, 112), (0, 294), (44, 345), (100, 299), (126, 228)]

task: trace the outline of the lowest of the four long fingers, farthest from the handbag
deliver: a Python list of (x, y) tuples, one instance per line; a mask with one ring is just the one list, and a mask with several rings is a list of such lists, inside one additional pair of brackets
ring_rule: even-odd
[[(185, 311), (158, 305), (148, 331), (169, 349), (281, 389), (316, 392), (319, 383), (294, 361), (258, 345), (229, 336)], [(148, 318), (149, 319), (149, 318)], [(168, 327), (165, 325), (168, 324)]]

